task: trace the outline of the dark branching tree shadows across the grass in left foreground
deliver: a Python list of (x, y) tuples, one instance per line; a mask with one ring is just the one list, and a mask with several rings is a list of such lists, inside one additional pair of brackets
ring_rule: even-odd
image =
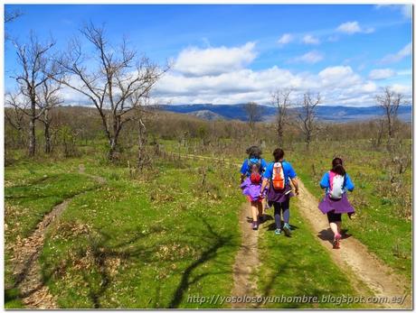
[[(122, 240), (117, 244), (111, 243), (114, 241), (114, 235), (103, 230), (97, 230), (97, 234), (88, 235), (86, 246), (81, 246), (80, 251), (76, 253), (75, 262), (80, 261), (82, 258), (86, 258), (86, 255), (90, 255), (90, 267), (89, 270), (80, 269), (80, 277), (83, 281), (84, 286), (87, 288), (88, 299), (93, 308), (105, 308), (102, 304), (103, 297), (105, 297), (106, 291), (111, 287), (115, 276), (112, 275), (109, 269), (109, 260), (118, 258), (128, 263), (147, 263), (157, 264), (162, 268), (167, 269), (167, 264), (171, 262), (181, 262), (184, 258), (189, 257), (189, 265), (185, 269), (168, 270), (171, 273), (181, 274), (181, 279), (173, 292), (172, 299), (168, 300), (168, 304), (165, 308), (177, 308), (184, 300), (184, 293), (198, 281), (211, 275), (221, 275), (224, 273), (230, 273), (232, 270), (226, 271), (215, 271), (215, 272), (197, 272), (195, 270), (200, 269), (201, 266), (210, 260), (213, 260), (219, 254), (219, 249), (224, 246), (234, 245), (233, 235), (222, 235), (219, 231), (213, 229), (205, 219), (201, 218), (203, 226), (198, 230), (197, 234), (186, 233), (183, 238), (172, 238), (169, 236), (161, 236), (160, 241), (156, 244), (148, 244), (148, 239), (155, 238), (157, 235), (161, 235), (164, 231), (161, 227), (153, 227), (145, 234), (141, 229), (131, 229), (126, 231), (130, 235), (126, 240)], [(169, 259), (160, 259), (159, 252), (163, 246), (172, 246), (172, 244), (189, 244), (189, 237), (197, 238), (199, 243), (203, 243), (203, 246), (194, 245), (193, 248), (198, 251), (199, 257), (194, 260), (192, 256), (184, 256), (177, 254), (170, 254)], [(75, 237), (77, 238), (77, 237)], [(187, 239), (187, 240), (186, 240)], [(206, 248), (204, 248), (206, 247)], [(201, 252), (202, 250), (202, 252)], [(65, 272), (73, 269), (74, 260), (71, 262), (61, 262), (60, 264), (54, 265), (54, 268), (49, 268), (48, 271), (43, 272), (43, 285), (48, 284), (49, 281), (59, 280), (65, 275)], [(166, 262), (166, 267), (164, 267)], [(230, 264), (222, 264), (222, 262), (216, 261), (220, 269), (223, 266)], [(222, 266), (223, 265), (223, 266)], [(44, 265), (45, 268), (48, 264)], [(52, 265), (51, 265), (52, 267)], [(91, 275), (91, 270), (94, 269), (95, 274)], [(156, 286), (156, 303), (160, 299), (160, 286), (163, 284), (163, 280), (160, 285)], [(151, 299), (149, 300), (150, 303)]]

